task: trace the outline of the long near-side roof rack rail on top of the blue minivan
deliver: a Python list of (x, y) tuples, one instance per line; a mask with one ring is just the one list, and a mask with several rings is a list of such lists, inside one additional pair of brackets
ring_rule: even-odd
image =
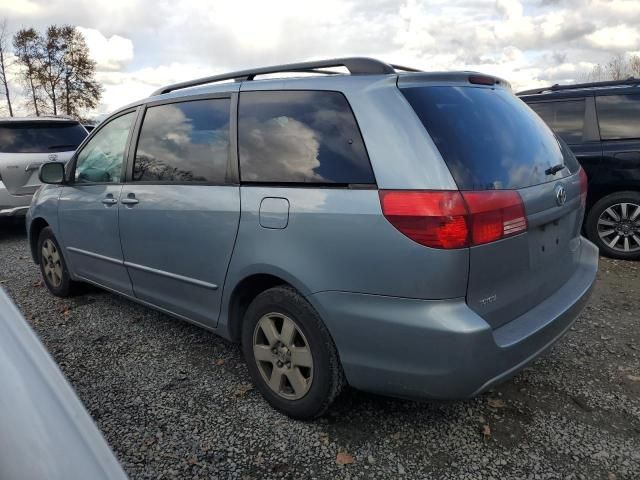
[(330, 60), (314, 60), (311, 62), (289, 63), (285, 65), (274, 65), (272, 67), (252, 68), (249, 70), (240, 70), (237, 72), (223, 73), (222, 75), (213, 75), (210, 77), (198, 78), (186, 82), (174, 83), (159, 88), (151, 95), (161, 95), (163, 93), (173, 92), (183, 88), (196, 87), (206, 85), (208, 83), (223, 82), (225, 80), (245, 81), (253, 80), (257, 75), (266, 75), (270, 73), (285, 72), (304, 72), (304, 73), (322, 73), (327, 75), (336, 75), (340, 72), (320, 70), (322, 68), (345, 67), (351, 75), (381, 75), (387, 73), (396, 73), (396, 70), (407, 72), (419, 72), (409, 67), (401, 67), (399, 65), (389, 65), (374, 58), (367, 57), (349, 57), (334, 58)]

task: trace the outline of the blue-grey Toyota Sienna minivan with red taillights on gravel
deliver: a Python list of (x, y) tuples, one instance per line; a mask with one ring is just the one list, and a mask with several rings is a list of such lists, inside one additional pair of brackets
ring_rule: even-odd
[(174, 84), (40, 178), (54, 295), (88, 282), (241, 342), (295, 418), (345, 385), (485, 391), (566, 333), (598, 264), (574, 155), (477, 73), (346, 58)]

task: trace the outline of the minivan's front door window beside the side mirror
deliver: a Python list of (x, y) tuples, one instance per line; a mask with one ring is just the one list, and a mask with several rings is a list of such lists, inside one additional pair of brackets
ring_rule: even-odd
[(118, 183), (127, 137), (135, 120), (129, 112), (111, 120), (78, 153), (76, 183)]

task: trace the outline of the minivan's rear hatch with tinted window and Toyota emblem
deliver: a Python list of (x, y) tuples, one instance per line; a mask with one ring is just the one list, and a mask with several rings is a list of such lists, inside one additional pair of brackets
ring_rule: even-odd
[(584, 199), (580, 167), (566, 145), (509, 89), (486, 83), (398, 86), (463, 195), (510, 190), (522, 201), (526, 230), (469, 248), (467, 303), (497, 328), (576, 271)]

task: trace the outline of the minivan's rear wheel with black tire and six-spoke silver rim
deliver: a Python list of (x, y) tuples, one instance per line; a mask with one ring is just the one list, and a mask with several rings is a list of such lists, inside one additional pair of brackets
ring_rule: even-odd
[(321, 416), (344, 385), (329, 332), (313, 307), (291, 287), (270, 288), (251, 302), (242, 323), (242, 350), (262, 396), (292, 418)]

